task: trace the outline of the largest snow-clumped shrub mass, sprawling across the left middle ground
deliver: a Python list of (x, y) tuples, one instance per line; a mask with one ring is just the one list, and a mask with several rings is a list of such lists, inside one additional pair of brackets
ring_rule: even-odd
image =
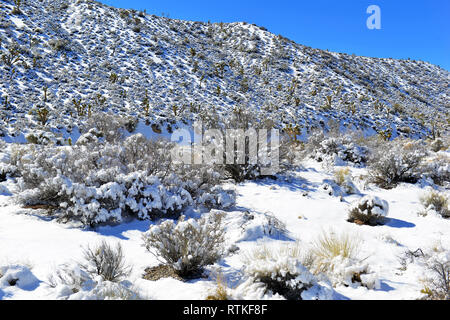
[(21, 175), (17, 199), (91, 226), (124, 216), (176, 217), (190, 205), (234, 205), (234, 192), (218, 185), (214, 167), (173, 164), (169, 142), (137, 134), (110, 143), (98, 136), (90, 129), (74, 146), (18, 148), (11, 161)]

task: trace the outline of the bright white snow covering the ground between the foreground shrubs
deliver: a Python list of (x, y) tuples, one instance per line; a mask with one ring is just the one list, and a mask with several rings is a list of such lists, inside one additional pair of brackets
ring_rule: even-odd
[[(352, 168), (355, 181), (365, 169)], [(336, 197), (323, 191), (324, 180), (332, 179), (315, 161), (284, 180), (261, 180), (235, 186), (237, 205), (226, 213), (226, 242), (239, 250), (207, 268), (207, 273), (223, 274), (229, 291), (238, 298), (280, 298), (259, 295), (245, 286), (243, 256), (251, 248), (278, 246), (297, 241), (307, 250), (323, 231), (346, 233), (361, 239), (358, 257), (370, 265), (379, 284), (363, 286), (337, 285), (338, 299), (418, 299), (423, 297), (421, 282), (427, 270), (412, 262), (402, 268), (402, 255), (410, 250), (443, 251), (450, 248), (450, 220), (440, 216), (419, 216), (419, 185), (401, 184), (383, 190), (355, 182), (360, 194)], [(0, 186), (13, 188), (4, 182)], [(1, 188), (0, 188), (1, 190)], [(128, 280), (139, 295), (147, 299), (205, 299), (216, 286), (213, 277), (182, 282), (172, 278), (158, 281), (142, 279), (147, 267), (159, 262), (143, 246), (142, 234), (153, 223), (130, 221), (118, 226), (98, 227), (87, 231), (51, 221), (39, 211), (23, 209), (12, 203), (12, 196), (0, 193), (0, 266), (10, 266), (10, 273), (22, 273), (22, 283), (11, 286), (0, 281), (0, 299), (56, 299), (61, 293), (48, 285), (49, 276), (64, 263), (80, 261), (82, 247), (106, 240), (120, 242), (127, 262), (132, 265)], [(389, 204), (384, 225), (366, 226), (347, 222), (351, 202), (363, 195), (374, 195)], [(252, 216), (252, 219), (248, 219)], [(265, 217), (274, 216), (285, 224), (286, 232), (268, 232)], [(15, 267), (14, 266), (21, 266)], [(25, 268), (24, 268), (25, 267)], [(220, 270), (220, 271), (219, 271)], [(77, 298), (88, 298), (78, 296)]]

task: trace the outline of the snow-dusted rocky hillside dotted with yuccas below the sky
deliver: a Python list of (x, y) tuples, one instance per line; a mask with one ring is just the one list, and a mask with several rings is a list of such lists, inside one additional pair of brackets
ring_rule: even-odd
[(246, 23), (173, 20), (85, 0), (1, 0), (0, 56), (7, 141), (23, 141), (32, 128), (67, 138), (106, 110), (151, 123), (246, 110), (304, 134), (330, 119), (393, 137), (448, 125), (447, 70), (313, 49)]

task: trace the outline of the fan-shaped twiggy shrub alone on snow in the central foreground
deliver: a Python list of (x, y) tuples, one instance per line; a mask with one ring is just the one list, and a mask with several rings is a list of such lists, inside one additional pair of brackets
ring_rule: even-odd
[(207, 265), (223, 255), (222, 213), (198, 220), (180, 217), (150, 227), (143, 235), (147, 250), (162, 263), (172, 266), (181, 277), (198, 276)]

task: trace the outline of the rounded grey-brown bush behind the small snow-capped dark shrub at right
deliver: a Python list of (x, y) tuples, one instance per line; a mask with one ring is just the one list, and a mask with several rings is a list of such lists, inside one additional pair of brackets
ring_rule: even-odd
[(422, 176), (421, 163), (426, 154), (418, 141), (386, 141), (371, 154), (369, 180), (385, 189), (400, 182), (416, 183)]

